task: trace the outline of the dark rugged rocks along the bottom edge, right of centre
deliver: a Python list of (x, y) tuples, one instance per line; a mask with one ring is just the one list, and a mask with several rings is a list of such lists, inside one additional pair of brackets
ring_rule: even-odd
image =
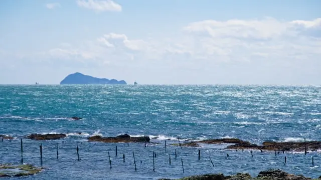
[[(312, 179), (304, 177), (303, 175), (289, 174), (280, 169), (269, 169), (259, 172), (257, 177), (252, 177), (249, 173), (236, 173), (235, 175), (224, 176), (224, 174), (204, 174), (187, 176), (177, 180), (307, 180)], [(321, 179), (319, 176), (317, 179)], [(162, 178), (158, 180), (174, 180), (168, 178)]]

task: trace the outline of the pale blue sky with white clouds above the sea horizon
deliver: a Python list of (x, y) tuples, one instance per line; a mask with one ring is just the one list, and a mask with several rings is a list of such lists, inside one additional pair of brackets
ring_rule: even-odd
[(0, 84), (321, 84), (321, 0), (0, 0)]

